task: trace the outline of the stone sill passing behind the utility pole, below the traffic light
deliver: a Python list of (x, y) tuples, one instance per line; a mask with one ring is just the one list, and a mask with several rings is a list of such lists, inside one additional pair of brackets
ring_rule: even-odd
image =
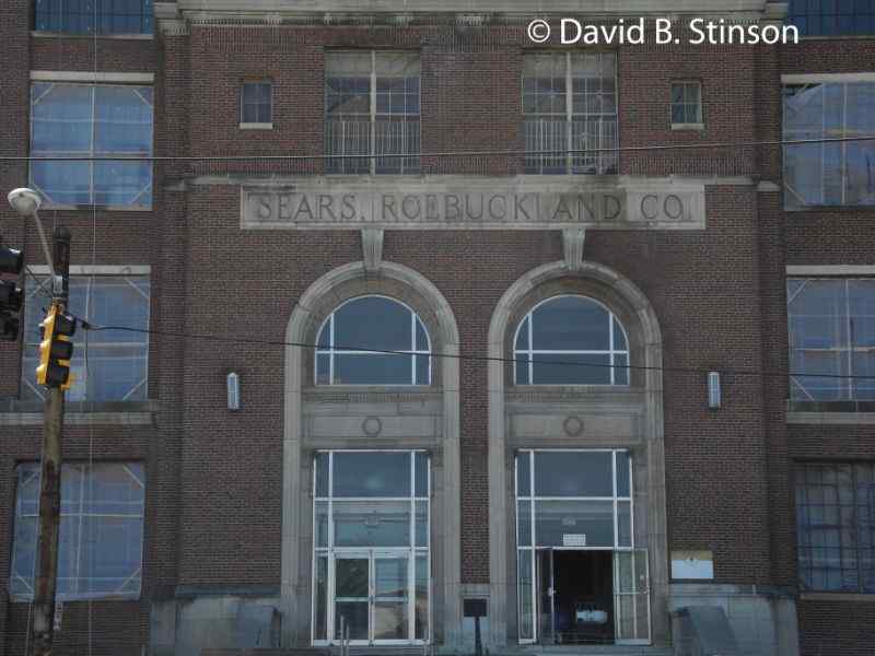
[[(156, 401), (70, 401), (65, 425), (153, 425)], [(0, 425), (43, 425), (43, 402), (0, 400)]]

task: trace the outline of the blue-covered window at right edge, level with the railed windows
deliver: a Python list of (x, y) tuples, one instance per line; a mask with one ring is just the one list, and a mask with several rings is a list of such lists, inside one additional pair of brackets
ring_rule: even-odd
[[(785, 141), (875, 134), (875, 82), (784, 86)], [(784, 147), (784, 206), (875, 204), (875, 142)]]

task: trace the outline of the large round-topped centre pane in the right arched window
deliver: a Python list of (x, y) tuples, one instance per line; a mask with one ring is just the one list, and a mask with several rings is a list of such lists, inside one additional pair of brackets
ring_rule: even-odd
[(608, 350), (609, 314), (588, 298), (560, 296), (532, 315), (533, 347), (542, 350)]

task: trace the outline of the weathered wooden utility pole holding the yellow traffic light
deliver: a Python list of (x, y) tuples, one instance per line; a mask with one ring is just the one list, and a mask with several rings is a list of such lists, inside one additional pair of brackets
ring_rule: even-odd
[[(52, 280), (51, 306), (60, 314), (67, 307), (70, 292), (70, 231), (66, 227), (56, 227), (52, 237), (55, 273), (60, 277), (61, 284), (58, 285)], [(55, 639), (55, 595), (58, 582), (58, 534), (60, 532), (61, 514), (63, 394), (65, 390), (61, 387), (46, 388), (32, 656), (50, 656)]]

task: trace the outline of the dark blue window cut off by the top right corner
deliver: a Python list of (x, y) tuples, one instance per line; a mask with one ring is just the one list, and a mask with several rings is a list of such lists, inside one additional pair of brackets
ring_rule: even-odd
[(875, 34), (872, 0), (790, 0), (788, 21), (802, 36)]

